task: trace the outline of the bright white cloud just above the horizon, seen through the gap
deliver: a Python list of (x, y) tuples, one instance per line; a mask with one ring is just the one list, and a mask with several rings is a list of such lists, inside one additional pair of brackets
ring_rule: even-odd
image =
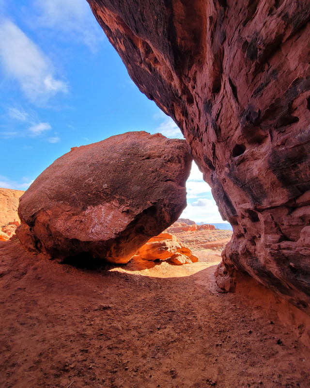
[(187, 204), (180, 217), (189, 218), (195, 222), (203, 221), (205, 224), (224, 222), (218, 212), (215, 200), (207, 198), (200, 198), (192, 204)]

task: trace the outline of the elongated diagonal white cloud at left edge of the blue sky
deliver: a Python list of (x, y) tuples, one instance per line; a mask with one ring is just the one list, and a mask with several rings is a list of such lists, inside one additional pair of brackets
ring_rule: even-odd
[(0, 63), (6, 75), (17, 81), (33, 102), (66, 93), (64, 82), (54, 78), (44, 52), (8, 19), (0, 21)]

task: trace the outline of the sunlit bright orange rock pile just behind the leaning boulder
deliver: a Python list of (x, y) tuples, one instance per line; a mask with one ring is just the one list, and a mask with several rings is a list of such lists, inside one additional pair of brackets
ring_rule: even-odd
[(198, 258), (170, 233), (160, 233), (146, 242), (133, 259), (161, 260), (176, 265), (196, 263)]

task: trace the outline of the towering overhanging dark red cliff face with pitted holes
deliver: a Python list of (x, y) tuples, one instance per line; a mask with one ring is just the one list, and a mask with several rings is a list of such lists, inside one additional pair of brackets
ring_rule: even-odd
[(309, 2), (88, 2), (233, 225), (218, 284), (238, 269), (309, 311)]

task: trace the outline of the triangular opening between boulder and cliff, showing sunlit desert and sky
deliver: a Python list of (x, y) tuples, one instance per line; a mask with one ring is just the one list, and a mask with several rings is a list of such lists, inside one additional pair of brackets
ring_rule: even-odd
[(180, 218), (163, 231), (166, 236), (151, 239), (126, 265), (115, 265), (109, 271), (143, 273), (151, 270), (153, 272), (145, 274), (166, 278), (188, 276), (188, 271), (192, 275), (218, 265), (223, 249), (232, 238), (233, 228), (222, 220), (211, 188), (194, 162), (186, 192), (187, 207)]

